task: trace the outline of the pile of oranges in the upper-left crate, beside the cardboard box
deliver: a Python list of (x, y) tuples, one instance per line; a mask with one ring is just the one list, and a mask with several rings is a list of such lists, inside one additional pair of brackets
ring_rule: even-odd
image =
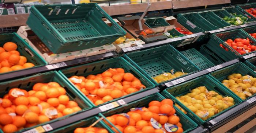
[(17, 44), (7, 42), (0, 47), (0, 73), (21, 70), (35, 66), (33, 63), (27, 62), (25, 56), (20, 56)]

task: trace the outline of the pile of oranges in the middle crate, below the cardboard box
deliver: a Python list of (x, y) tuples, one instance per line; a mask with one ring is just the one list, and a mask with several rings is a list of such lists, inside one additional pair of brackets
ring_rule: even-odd
[(108, 69), (101, 74), (68, 78), (94, 105), (120, 98), (146, 88), (138, 78), (124, 69)]

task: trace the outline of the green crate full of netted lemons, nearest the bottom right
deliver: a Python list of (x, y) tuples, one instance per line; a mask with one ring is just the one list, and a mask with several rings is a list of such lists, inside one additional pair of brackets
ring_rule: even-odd
[[(214, 116), (208, 118), (207, 120), (202, 120), (200, 117), (198, 117), (195, 113), (193, 113), (190, 109), (188, 109), (185, 105), (183, 105), (180, 101), (178, 101), (175, 97), (185, 95), (187, 93), (190, 93), (190, 89), (195, 89), (199, 86), (205, 86), (208, 91), (214, 90), (218, 94), (221, 94), (223, 97), (229, 96), (234, 98), (234, 105), (223, 110), (222, 112), (215, 114)], [(225, 89), (219, 83), (215, 82), (214, 79), (210, 78), (208, 75), (204, 75), (202, 77), (198, 77), (196, 79), (193, 79), (191, 81), (170, 87), (165, 89), (162, 94), (173, 100), (173, 102), (177, 103), (182, 109), (184, 109), (187, 112), (187, 115), (192, 118), (192, 120), (195, 120), (198, 122), (198, 124), (204, 124), (207, 121), (210, 121), (212, 118), (219, 116), (220, 114), (224, 113), (226, 110), (229, 110), (230, 108), (236, 106), (241, 102), (240, 99), (238, 99), (234, 94), (230, 93), (229, 90)]]

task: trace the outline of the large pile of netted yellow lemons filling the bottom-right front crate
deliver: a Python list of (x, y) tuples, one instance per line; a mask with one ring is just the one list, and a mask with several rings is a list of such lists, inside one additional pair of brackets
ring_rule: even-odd
[[(222, 112), (230, 106), (234, 105), (234, 99), (232, 97), (222, 97), (216, 91), (208, 91), (205, 86), (200, 86), (190, 91), (185, 95), (175, 97), (188, 109), (194, 112), (202, 120)], [(187, 114), (184, 109), (175, 104), (182, 112)]]

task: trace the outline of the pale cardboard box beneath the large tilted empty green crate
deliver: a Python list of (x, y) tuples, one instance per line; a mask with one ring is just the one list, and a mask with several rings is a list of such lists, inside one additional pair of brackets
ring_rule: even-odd
[(63, 62), (67, 60), (73, 60), (77, 58), (83, 58), (92, 55), (103, 54), (106, 52), (112, 52), (116, 50), (116, 47), (111, 45), (104, 45), (101, 47), (90, 48), (86, 50), (79, 50), (74, 52), (66, 52), (61, 54), (54, 54), (45, 46), (45, 44), (38, 38), (37, 35), (29, 28), (29, 26), (21, 26), (17, 31), (17, 34), (25, 39), (29, 45), (38, 52), (42, 58), (49, 64)]

